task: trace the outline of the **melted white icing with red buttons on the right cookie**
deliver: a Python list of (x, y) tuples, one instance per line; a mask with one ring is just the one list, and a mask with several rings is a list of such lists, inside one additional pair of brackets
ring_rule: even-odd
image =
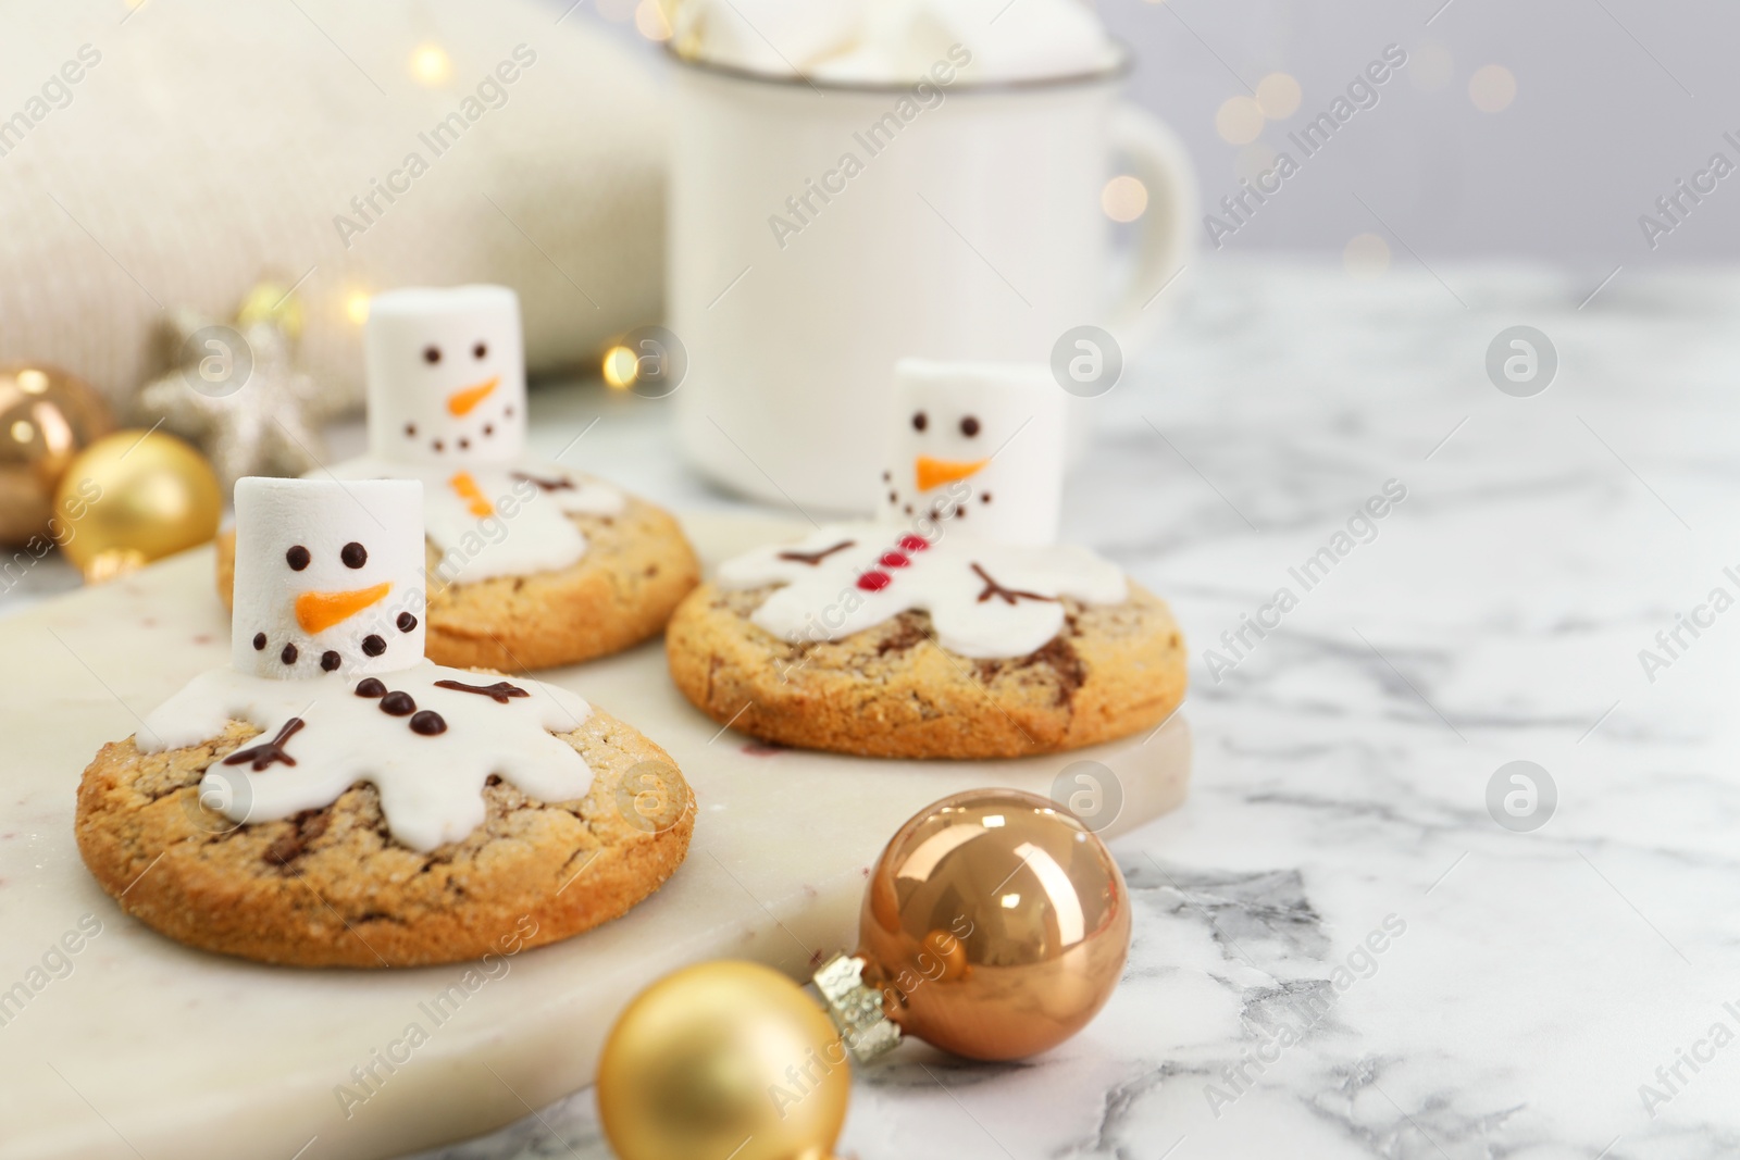
[[(847, 546), (828, 551), (839, 544)], [(802, 558), (818, 553), (826, 555)], [(873, 591), (860, 586), (872, 572), (886, 577)], [(1096, 605), (1129, 598), (1122, 570), (1086, 548), (1002, 544), (955, 529), (924, 541), (884, 523), (830, 523), (795, 544), (757, 548), (722, 563), (717, 583), (781, 584), (750, 619), (792, 643), (840, 640), (922, 610), (943, 649), (974, 659), (1042, 649), (1063, 628), (1061, 597)]]

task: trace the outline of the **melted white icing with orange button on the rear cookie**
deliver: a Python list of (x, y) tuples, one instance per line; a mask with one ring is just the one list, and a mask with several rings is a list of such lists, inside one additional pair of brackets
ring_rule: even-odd
[(529, 576), (578, 563), (586, 555), (586, 536), (569, 513), (618, 515), (626, 503), (609, 483), (536, 456), (496, 466), (364, 456), (334, 466), (332, 475), (421, 480), (423, 527), (442, 553), (440, 579), (445, 583)]

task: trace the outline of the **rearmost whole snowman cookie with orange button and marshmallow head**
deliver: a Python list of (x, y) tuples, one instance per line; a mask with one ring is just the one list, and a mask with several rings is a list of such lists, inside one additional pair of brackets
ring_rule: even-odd
[[(677, 522), (525, 445), (519, 299), (496, 285), (376, 296), (369, 454), (317, 478), (423, 483), (428, 654), (513, 671), (658, 633), (699, 572)], [(233, 539), (218, 543), (231, 591)]]

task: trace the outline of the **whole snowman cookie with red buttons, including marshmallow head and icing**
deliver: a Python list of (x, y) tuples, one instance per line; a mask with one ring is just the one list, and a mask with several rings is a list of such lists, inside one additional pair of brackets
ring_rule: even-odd
[(1185, 694), (1171, 612), (1053, 543), (1056, 384), (985, 363), (896, 377), (880, 522), (722, 563), (666, 628), (677, 687), (757, 737), (873, 757), (1025, 757), (1166, 720)]

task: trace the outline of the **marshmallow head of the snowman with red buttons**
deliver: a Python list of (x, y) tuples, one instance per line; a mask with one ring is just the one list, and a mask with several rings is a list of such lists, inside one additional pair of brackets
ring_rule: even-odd
[(1046, 365), (905, 358), (894, 405), (882, 520), (954, 510), (957, 527), (983, 539), (1056, 539), (1065, 398)]

